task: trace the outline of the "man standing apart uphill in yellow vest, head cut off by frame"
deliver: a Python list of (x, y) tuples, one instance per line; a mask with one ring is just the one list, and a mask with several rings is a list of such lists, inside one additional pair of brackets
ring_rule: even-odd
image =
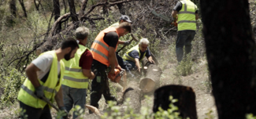
[[(178, 17), (177, 14), (179, 14)], [(174, 20), (178, 18), (176, 56), (180, 63), (184, 56), (184, 45), (185, 55), (191, 52), (191, 41), (195, 37), (196, 20), (198, 20), (198, 8), (190, 0), (181, 0), (174, 7), (172, 16)]]

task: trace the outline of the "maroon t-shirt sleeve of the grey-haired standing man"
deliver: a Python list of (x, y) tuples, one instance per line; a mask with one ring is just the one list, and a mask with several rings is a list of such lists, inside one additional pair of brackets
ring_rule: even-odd
[[(83, 45), (83, 43), (79, 42), (80, 45)], [(91, 52), (87, 49), (85, 52), (83, 52), (82, 56), (79, 60), (79, 67), (82, 67), (82, 69), (90, 70), (91, 69), (91, 63), (93, 61), (93, 57)]]

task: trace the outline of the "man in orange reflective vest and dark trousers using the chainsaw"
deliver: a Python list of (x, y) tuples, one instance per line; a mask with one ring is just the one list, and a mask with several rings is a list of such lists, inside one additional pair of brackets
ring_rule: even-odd
[[(118, 38), (132, 31), (131, 23), (120, 23), (118, 27), (109, 27), (101, 31), (91, 45), (93, 62), (91, 69), (96, 77), (91, 83), (91, 106), (98, 108), (98, 101), (102, 94), (106, 101), (117, 101), (109, 92), (109, 81), (106, 76), (106, 68), (111, 67), (110, 73), (114, 74), (114, 69), (121, 70), (117, 62), (116, 50)], [(90, 111), (90, 113), (92, 113)]]

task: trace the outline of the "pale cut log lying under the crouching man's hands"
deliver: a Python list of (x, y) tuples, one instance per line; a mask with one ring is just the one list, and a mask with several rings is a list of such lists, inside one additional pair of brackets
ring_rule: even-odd
[(142, 63), (145, 78), (140, 79), (139, 88), (141, 88), (143, 92), (152, 92), (159, 86), (162, 73), (161, 68), (154, 63), (148, 62), (146, 57), (143, 58)]

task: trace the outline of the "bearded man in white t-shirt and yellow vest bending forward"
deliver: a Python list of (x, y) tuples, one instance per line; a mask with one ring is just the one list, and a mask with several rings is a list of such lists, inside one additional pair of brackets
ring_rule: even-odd
[(61, 82), (65, 71), (61, 59), (69, 60), (74, 57), (78, 45), (75, 39), (63, 41), (61, 48), (55, 51), (44, 52), (26, 68), (27, 79), (21, 85), (17, 99), (20, 108), (25, 110), (24, 117), (28, 119), (51, 119), (50, 106), (42, 99), (56, 101), (59, 110), (67, 112), (63, 104)]

